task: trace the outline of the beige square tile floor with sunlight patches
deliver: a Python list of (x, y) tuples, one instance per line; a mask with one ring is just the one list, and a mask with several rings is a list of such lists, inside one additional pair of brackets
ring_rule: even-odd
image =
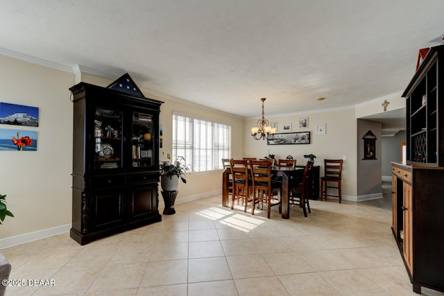
[(3, 249), (10, 279), (55, 282), (6, 295), (416, 295), (390, 211), (314, 200), (304, 218), (291, 207), (289, 220), (277, 207), (268, 220), (223, 208), (216, 195), (88, 245), (61, 234)]

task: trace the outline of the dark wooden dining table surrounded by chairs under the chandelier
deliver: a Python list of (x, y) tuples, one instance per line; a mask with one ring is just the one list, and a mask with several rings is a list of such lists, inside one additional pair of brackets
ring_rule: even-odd
[[(304, 168), (291, 166), (271, 166), (271, 173), (278, 177), (282, 177), (282, 219), (290, 218), (290, 190), (291, 184), (300, 182), (304, 173)], [(228, 207), (230, 203), (229, 188), (230, 188), (230, 174), (231, 168), (227, 167), (222, 173), (222, 206)], [(304, 200), (301, 200), (301, 204), (304, 204)]]

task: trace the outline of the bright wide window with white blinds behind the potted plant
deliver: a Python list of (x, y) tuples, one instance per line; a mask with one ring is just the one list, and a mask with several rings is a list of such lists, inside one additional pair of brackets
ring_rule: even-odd
[(173, 114), (172, 159), (185, 157), (194, 172), (222, 169), (231, 155), (231, 126)]

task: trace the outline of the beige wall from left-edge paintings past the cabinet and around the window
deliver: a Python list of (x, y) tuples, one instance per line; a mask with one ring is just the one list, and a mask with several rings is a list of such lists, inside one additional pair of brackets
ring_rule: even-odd
[[(0, 249), (66, 232), (71, 227), (72, 103), (69, 87), (80, 81), (107, 86), (111, 80), (87, 73), (66, 73), (0, 55), (1, 102), (40, 108), (38, 128), (0, 125), (0, 128), (37, 131), (36, 152), (0, 152), (0, 193), (6, 194), (15, 218), (0, 226)], [(150, 94), (165, 103), (160, 123), (165, 154), (171, 153), (171, 114), (184, 112), (232, 125), (232, 154), (244, 150), (244, 119), (185, 101)], [(221, 171), (192, 173), (180, 184), (176, 202), (221, 192)], [(162, 198), (160, 198), (162, 200)]]

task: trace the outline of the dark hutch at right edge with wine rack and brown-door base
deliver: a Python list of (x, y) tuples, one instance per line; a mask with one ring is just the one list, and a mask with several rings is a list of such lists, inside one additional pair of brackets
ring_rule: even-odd
[(392, 162), (392, 229), (416, 293), (444, 291), (443, 82), (444, 46), (435, 46), (402, 95), (407, 163)]

